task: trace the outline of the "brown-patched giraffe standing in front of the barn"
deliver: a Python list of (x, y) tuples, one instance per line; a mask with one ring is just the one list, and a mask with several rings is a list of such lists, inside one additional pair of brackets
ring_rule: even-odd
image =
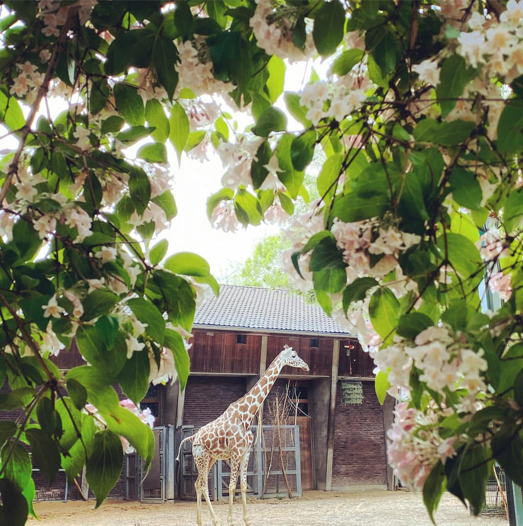
[(258, 413), (261, 404), (269, 395), (274, 382), (278, 378), (284, 366), (288, 365), (298, 369), (309, 370), (305, 363), (292, 347), (283, 346), (283, 351), (274, 359), (263, 376), (256, 382), (253, 388), (242, 398), (231, 403), (231, 405), (216, 420), (206, 424), (190, 437), (186, 437), (180, 443), (176, 462), (180, 459), (180, 451), (185, 441), (192, 442), (192, 454), (198, 478), (194, 483), (196, 489), (196, 523), (202, 526), (202, 493), (211, 512), (212, 523), (218, 526), (216, 515), (212, 509), (209, 499), (209, 488), (207, 486), (208, 473), (216, 460), (230, 459), (231, 479), (229, 482), (229, 515), (228, 526), (232, 526), (232, 504), (236, 490), (236, 480), (240, 470), (240, 488), (242, 493), (243, 522), (249, 526), (247, 517), (247, 463), (253, 442), (251, 423)]

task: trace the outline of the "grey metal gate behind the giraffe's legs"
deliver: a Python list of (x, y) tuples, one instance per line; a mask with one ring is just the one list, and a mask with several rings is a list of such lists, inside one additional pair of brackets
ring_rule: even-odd
[[(176, 443), (191, 436), (198, 427), (183, 426), (176, 431)], [(258, 433), (258, 426), (251, 427), (255, 437), (249, 457), (247, 471), (247, 492), (256, 497), (276, 497), (287, 495), (287, 483), (282, 469), (285, 468), (287, 481), (294, 497), (301, 496), (301, 464), (300, 464), (300, 430), (298, 426), (262, 426), (262, 433)], [(281, 440), (281, 448), (280, 448)], [(192, 457), (192, 444), (185, 442), (180, 454), (179, 496), (181, 499), (196, 499), (194, 482), (198, 477), (198, 470)], [(229, 480), (231, 470), (229, 462), (218, 460), (209, 473), (209, 495), (212, 500), (229, 498)], [(240, 477), (236, 482), (236, 494), (240, 493)]]

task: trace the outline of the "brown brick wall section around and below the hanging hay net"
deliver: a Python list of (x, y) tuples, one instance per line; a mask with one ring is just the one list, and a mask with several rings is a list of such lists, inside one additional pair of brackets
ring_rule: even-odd
[(362, 382), (363, 404), (344, 405), (341, 382), (336, 397), (332, 487), (386, 484), (383, 413), (372, 382)]

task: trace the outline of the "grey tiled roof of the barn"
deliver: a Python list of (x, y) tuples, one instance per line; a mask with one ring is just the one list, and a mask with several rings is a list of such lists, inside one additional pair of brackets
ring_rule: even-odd
[(194, 327), (349, 335), (317, 304), (288, 290), (221, 285), (220, 296), (196, 310)]

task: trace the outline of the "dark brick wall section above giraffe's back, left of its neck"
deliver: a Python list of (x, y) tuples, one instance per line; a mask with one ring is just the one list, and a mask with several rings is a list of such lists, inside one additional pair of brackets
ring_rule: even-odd
[(183, 425), (204, 426), (245, 392), (245, 378), (191, 375), (185, 387)]

